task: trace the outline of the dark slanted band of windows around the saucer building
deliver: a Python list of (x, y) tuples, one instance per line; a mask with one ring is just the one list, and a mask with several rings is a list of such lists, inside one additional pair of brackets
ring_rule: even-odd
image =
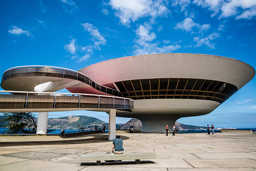
[(160, 78), (115, 82), (123, 97), (140, 99), (199, 99), (220, 104), (237, 92), (230, 83), (208, 79)]

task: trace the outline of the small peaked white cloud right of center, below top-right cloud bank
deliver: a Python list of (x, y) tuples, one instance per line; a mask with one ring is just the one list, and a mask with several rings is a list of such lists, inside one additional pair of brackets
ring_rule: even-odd
[(185, 20), (183, 20), (182, 22), (177, 23), (174, 29), (181, 29), (189, 32), (189, 31), (192, 31), (192, 29), (195, 26), (198, 28), (200, 32), (207, 31), (211, 27), (210, 24), (200, 25), (198, 23), (195, 23), (191, 18), (185, 18)]

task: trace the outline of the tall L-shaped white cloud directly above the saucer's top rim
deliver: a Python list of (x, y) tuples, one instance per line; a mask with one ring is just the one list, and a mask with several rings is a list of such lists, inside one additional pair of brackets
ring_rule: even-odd
[(138, 54), (156, 54), (156, 53), (164, 53), (164, 52), (172, 52), (179, 48), (179, 45), (167, 45), (167, 46), (159, 46), (159, 42), (151, 43), (156, 38), (156, 34), (151, 31), (153, 28), (149, 23), (144, 23), (138, 26), (136, 30), (137, 39), (136, 45), (133, 46), (133, 53)]

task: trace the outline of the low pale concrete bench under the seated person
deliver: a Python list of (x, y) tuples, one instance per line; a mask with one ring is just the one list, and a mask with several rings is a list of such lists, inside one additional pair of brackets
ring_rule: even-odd
[(96, 165), (100, 165), (100, 161), (109, 160), (135, 160), (136, 164), (140, 163), (141, 159), (154, 159), (154, 153), (123, 153), (123, 154), (82, 154), (80, 156), (81, 163), (84, 161), (96, 161)]

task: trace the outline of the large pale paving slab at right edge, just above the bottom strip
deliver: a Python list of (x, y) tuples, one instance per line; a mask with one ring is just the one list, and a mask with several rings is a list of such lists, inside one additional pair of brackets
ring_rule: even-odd
[(186, 159), (186, 161), (195, 168), (254, 168), (256, 161), (239, 158), (239, 159)]

